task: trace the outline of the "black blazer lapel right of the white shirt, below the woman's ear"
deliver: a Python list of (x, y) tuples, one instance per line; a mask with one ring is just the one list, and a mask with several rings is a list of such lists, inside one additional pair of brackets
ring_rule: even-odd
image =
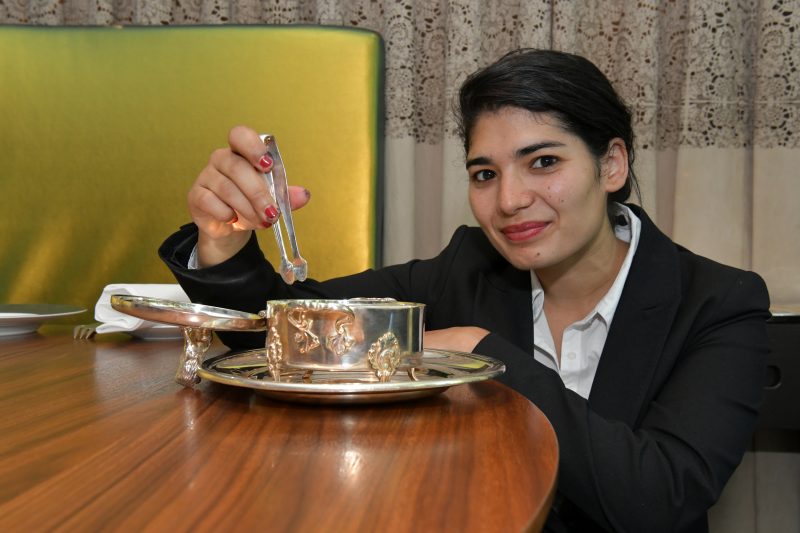
[(631, 426), (652, 385), (681, 290), (675, 245), (644, 211), (634, 210), (642, 221), (639, 245), (589, 395), (592, 410)]

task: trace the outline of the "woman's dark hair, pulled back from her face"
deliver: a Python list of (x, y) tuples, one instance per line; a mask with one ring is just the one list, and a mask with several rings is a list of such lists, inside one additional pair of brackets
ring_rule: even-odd
[(518, 107), (548, 113), (573, 135), (580, 137), (599, 160), (609, 142), (619, 137), (628, 149), (628, 178), (620, 190), (608, 195), (624, 202), (639, 184), (633, 172), (631, 112), (608, 78), (591, 61), (555, 50), (521, 49), (469, 76), (459, 91), (458, 126), (464, 150), (478, 117), (486, 111)]

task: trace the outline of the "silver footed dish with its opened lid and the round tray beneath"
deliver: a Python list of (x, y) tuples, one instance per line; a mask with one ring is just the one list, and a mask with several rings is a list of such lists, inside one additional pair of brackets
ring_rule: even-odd
[[(423, 350), (422, 304), (279, 300), (254, 315), (117, 294), (111, 305), (144, 320), (182, 327), (184, 350), (175, 380), (187, 387), (203, 378), (279, 400), (361, 404), (431, 396), (505, 372), (503, 363), (490, 357)], [(265, 348), (203, 361), (212, 331), (264, 331), (268, 323)], [(278, 350), (281, 357), (276, 358)]]

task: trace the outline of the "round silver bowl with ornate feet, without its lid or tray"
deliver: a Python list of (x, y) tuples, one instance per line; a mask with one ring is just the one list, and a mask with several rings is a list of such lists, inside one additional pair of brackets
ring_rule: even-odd
[(360, 371), (389, 381), (420, 363), (424, 309), (390, 298), (268, 301), (270, 373), (280, 381), (286, 370)]

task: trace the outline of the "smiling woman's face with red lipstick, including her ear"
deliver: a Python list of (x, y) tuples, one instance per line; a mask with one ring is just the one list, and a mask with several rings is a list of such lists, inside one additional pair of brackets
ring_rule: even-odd
[(628, 168), (625, 144), (609, 146), (598, 164), (552, 115), (505, 107), (478, 118), (467, 154), (470, 206), (512, 265), (569, 266), (610, 250), (606, 195), (624, 185)]

